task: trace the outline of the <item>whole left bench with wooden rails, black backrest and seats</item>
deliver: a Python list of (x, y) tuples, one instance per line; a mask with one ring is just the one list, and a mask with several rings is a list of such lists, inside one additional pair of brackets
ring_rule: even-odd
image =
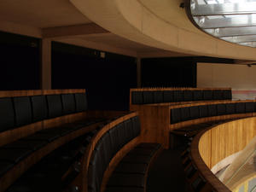
[(46, 154), (114, 114), (88, 112), (85, 90), (3, 91), (0, 96), (0, 191)]

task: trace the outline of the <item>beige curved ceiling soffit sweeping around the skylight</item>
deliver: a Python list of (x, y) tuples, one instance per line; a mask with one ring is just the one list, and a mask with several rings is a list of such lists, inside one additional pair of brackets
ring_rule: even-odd
[(181, 0), (70, 0), (96, 24), (123, 38), (194, 55), (256, 60), (256, 49), (212, 38), (196, 29)]

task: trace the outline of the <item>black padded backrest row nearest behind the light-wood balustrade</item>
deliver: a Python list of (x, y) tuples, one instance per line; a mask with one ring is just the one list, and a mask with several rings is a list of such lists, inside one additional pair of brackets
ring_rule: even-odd
[(213, 117), (235, 113), (254, 113), (256, 112), (256, 102), (236, 102), (222, 104), (204, 104), (198, 106), (172, 108), (171, 124), (178, 122)]

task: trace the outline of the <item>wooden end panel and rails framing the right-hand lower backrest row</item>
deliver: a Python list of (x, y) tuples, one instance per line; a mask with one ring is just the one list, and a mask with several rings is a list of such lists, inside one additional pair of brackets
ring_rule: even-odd
[(136, 110), (140, 114), (142, 122), (142, 139), (143, 142), (148, 143), (162, 143), (165, 148), (169, 147), (169, 133), (170, 131), (182, 128), (184, 126), (196, 125), (199, 123), (222, 120), (222, 119), (233, 119), (233, 118), (244, 118), (252, 117), (256, 113), (234, 113), (224, 114), (219, 116), (212, 116), (200, 119), (190, 119), (183, 122), (172, 124), (171, 122), (171, 110), (173, 108), (187, 108), (201, 105), (212, 105), (212, 104), (226, 104), (226, 103), (238, 103), (238, 102), (254, 102), (253, 100), (247, 101), (213, 101), (213, 102), (195, 102), (189, 104), (148, 104), (148, 105), (137, 105), (133, 106), (133, 110)]

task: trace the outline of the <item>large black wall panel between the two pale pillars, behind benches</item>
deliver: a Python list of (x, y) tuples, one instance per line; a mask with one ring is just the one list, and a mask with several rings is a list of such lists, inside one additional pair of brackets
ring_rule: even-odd
[(136, 86), (135, 58), (53, 42), (52, 88), (86, 89), (90, 109), (128, 110)]

